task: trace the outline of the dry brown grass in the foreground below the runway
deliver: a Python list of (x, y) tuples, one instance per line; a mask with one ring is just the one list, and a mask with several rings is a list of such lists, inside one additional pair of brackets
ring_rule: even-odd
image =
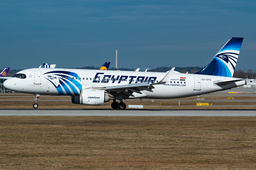
[(256, 169), (256, 117), (1, 117), (1, 169)]

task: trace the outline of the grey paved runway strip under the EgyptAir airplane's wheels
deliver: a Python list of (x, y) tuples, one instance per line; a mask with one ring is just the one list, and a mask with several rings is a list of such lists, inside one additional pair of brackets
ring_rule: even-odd
[(0, 109), (0, 116), (256, 116), (256, 111), (238, 109)]

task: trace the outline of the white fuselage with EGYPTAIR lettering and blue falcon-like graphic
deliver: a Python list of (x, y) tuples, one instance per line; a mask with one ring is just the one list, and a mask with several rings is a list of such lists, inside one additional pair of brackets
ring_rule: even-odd
[[(83, 69), (49, 69), (33, 68), (18, 72), (26, 78), (13, 77), (4, 82), (12, 91), (29, 94), (70, 95), (77, 96), (82, 88), (102, 88), (121, 86), (142, 82), (159, 82), (166, 72), (138, 72)], [(227, 85), (217, 82), (238, 80)], [(172, 74), (165, 84), (153, 85), (150, 91), (129, 98), (173, 99), (212, 93), (246, 84), (237, 78), (209, 76), (198, 74)]]

